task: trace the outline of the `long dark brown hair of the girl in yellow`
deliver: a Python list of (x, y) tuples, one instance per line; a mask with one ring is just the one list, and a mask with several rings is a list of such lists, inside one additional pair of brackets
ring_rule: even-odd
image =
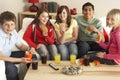
[(58, 8), (57, 15), (56, 15), (56, 23), (62, 23), (62, 20), (59, 18), (59, 14), (62, 13), (63, 9), (65, 9), (67, 11), (67, 20), (66, 21), (67, 21), (67, 24), (69, 27), (71, 24), (71, 14), (70, 14), (69, 8), (66, 5), (62, 5)]

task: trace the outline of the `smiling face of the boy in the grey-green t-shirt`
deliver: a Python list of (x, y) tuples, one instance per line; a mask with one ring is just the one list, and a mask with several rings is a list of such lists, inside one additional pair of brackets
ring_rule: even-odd
[(94, 10), (92, 9), (92, 6), (84, 7), (82, 14), (84, 15), (85, 20), (90, 21), (94, 15)]

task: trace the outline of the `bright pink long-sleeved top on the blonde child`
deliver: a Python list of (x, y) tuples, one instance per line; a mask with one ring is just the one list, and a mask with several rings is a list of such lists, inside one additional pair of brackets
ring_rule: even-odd
[(120, 65), (120, 27), (110, 32), (110, 42), (108, 45), (100, 42), (99, 45), (108, 50), (109, 54), (105, 54), (103, 57), (109, 60), (114, 60)]

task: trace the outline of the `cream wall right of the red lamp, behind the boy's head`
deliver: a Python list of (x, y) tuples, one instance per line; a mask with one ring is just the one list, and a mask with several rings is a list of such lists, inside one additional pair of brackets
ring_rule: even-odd
[(81, 13), (82, 5), (86, 2), (91, 2), (95, 6), (95, 16), (102, 17), (112, 8), (120, 8), (120, 0), (41, 0), (41, 1), (56, 1), (60, 5), (68, 5), (69, 8), (76, 7), (78, 13)]

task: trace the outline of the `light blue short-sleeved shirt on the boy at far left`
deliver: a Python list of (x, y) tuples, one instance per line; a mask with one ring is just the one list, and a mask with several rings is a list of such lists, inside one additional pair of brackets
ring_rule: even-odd
[(0, 28), (0, 51), (4, 56), (10, 56), (13, 47), (21, 43), (17, 31), (13, 30), (11, 36), (8, 38), (6, 33)]

